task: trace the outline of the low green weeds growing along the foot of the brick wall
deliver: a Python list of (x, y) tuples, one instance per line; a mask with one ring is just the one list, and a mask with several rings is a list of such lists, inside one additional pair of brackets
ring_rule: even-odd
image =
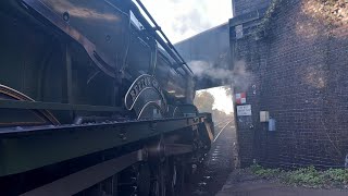
[(348, 170), (330, 169), (319, 171), (314, 167), (294, 171), (266, 169), (259, 164), (250, 167), (251, 172), (262, 179), (278, 180), (282, 183), (312, 188), (348, 188)]

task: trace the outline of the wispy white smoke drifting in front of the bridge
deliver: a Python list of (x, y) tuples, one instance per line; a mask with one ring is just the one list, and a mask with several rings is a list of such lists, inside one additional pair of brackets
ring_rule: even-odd
[(188, 65), (198, 79), (207, 78), (221, 85), (233, 85), (243, 91), (246, 91), (253, 81), (245, 61), (236, 61), (233, 70), (229, 70), (227, 64), (213, 64), (207, 61), (190, 61)]

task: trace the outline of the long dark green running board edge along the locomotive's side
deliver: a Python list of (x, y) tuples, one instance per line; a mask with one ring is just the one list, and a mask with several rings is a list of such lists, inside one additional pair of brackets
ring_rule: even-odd
[(174, 133), (203, 122), (204, 118), (181, 118), (83, 125), (0, 127), (0, 176)]

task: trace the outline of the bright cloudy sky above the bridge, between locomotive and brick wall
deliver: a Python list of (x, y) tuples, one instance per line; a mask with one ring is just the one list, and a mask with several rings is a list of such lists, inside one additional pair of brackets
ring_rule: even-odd
[(227, 22), (232, 0), (141, 0), (169, 39), (175, 44)]

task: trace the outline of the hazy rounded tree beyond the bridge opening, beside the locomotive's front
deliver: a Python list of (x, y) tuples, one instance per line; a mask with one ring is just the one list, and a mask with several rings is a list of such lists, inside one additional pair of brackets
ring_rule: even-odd
[(194, 103), (200, 112), (210, 112), (211, 113), (213, 111), (214, 101), (215, 101), (214, 96), (212, 96), (208, 91), (202, 91), (196, 96)]

